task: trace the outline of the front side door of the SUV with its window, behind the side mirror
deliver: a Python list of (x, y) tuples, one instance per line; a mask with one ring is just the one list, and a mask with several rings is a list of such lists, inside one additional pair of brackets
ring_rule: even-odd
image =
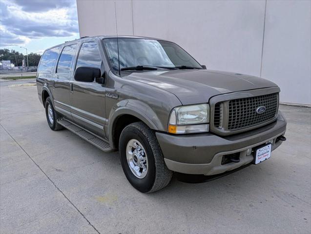
[[(104, 74), (103, 59), (97, 40), (81, 44), (75, 69), (78, 67), (93, 67), (101, 69)], [(105, 86), (97, 82), (82, 82), (71, 79), (70, 92), (71, 115), (75, 122), (87, 130), (105, 137)]]

